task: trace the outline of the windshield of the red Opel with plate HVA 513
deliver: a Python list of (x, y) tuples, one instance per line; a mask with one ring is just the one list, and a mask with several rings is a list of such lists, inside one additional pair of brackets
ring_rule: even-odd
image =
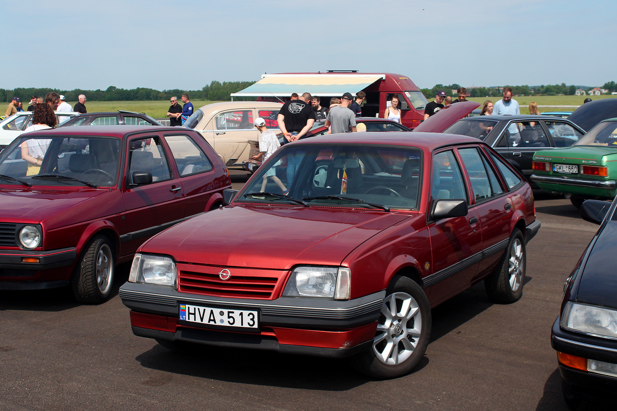
[(239, 201), (416, 209), (419, 149), (383, 145), (286, 145), (259, 168)]

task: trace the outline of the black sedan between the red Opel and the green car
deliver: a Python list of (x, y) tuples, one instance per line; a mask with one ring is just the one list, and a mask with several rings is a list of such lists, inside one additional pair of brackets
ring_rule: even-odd
[(462, 118), (444, 132), (476, 137), (491, 145), (526, 179), (537, 150), (569, 147), (584, 129), (565, 118), (544, 115), (494, 115)]

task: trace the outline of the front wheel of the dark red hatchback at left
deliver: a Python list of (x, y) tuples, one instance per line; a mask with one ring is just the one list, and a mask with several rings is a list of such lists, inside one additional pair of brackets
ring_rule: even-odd
[(104, 235), (92, 238), (71, 278), (73, 296), (80, 303), (99, 304), (107, 300), (114, 284), (113, 248)]

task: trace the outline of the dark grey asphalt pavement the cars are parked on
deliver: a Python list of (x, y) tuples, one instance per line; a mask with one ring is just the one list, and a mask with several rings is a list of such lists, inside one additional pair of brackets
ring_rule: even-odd
[[(246, 181), (233, 171), (233, 184)], [(597, 226), (536, 192), (524, 295), (482, 284), (433, 310), (415, 372), (371, 380), (344, 360), (199, 347), (176, 354), (133, 335), (117, 289), (98, 306), (67, 290), (0, 292), (0, 410), (564, 410), (550, 327), (563, 282)]]

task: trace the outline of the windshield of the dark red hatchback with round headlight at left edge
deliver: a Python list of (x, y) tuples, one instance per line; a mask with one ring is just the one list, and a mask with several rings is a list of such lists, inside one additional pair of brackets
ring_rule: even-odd
[(2, 184), (25, 182), (97, 187), (116, 184), (120, 140), (111, 137), (25, 136), (27, 134), (0, 154)]

